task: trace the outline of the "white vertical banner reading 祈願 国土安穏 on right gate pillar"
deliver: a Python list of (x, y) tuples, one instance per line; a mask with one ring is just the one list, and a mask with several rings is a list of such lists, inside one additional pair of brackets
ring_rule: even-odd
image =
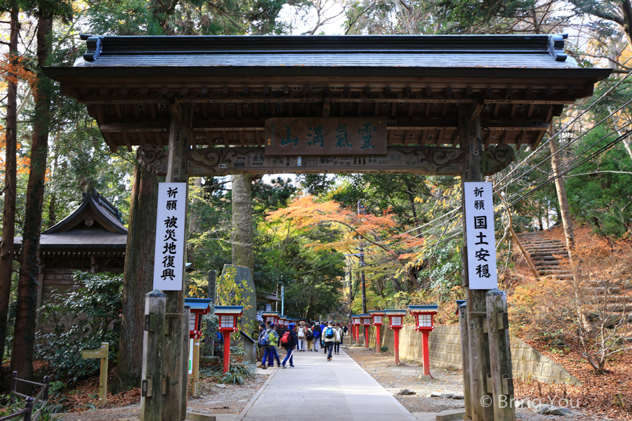
[(464, 182), (470, 289), (498, 287), (491, 182)]

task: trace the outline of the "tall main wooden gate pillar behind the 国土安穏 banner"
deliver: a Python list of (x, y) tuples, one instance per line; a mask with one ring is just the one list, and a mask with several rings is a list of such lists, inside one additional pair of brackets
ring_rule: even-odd
[[(465, 171), (461, 175), (461, 192), (464, 197), (463, 182), (484, 181), (481, 168), (482, 143), (480, 136), (480, 112), (482, 104), (459, 105), (459, 138), (461, 148), (465, 149)], [(487, 373), (489, 366), (489, 342), (487, 332), (483, 330), (487, 305), (485, 293), (487, 290), (471, 290), (468, 287), (468, 253), (466, 224), (467, 211), (463, 206), (463, 252), (461, 253), (462, 280), (467, 295), (467, 335), (469, 367), (463, 365), (463, 370), (469, 369), (470, 374), (470, 415), (474, 421), (492, 421), (492, 395), (487, 393)], [(487, 329), (485, 329), (487, 330)], [(461, 335), (465, 334), (461, 330)]]

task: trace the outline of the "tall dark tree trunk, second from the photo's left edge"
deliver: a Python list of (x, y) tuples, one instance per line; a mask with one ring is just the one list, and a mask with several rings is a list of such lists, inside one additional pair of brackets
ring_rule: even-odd
[[(40, 5), (41, 6), (41, 5)], [(53, 15), (40, 10), (37, 17), (37, 65), (46, 65), (51, 51)], [(39, 236), (41, 234), (41, 211), (44, 201), (44, 177), (48, 156), (48, 130), (51, 113), (51, 91), (53, 84), (44, 74), (39, 74), (33, 138), (31, 142), (31, 162), (27, 185), (26, 208), (24, 213), (24, 234), (22, 234), (22, 256), (18, 280), (18, 311), (15, 314), (15, 334), (11, 371), (18, 377), (33, 380), (33, 347), (35, 343), (35, 315), (37, 312), (37, 290), (39, 275)], [(32, 386), (22, 383), (27, 394)]]

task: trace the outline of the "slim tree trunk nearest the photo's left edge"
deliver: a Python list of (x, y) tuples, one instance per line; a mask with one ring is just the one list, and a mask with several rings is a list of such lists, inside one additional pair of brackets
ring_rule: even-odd
[[(18, 20), (20, 9), (13, 2), (11, 8), (11, 35), (9, 54), (18, 55)], [(8, 81), (6, 98), (6, 157), (4, 170), (4, 210), (2, 217), (2, 241), (0, 242), (0, 361), (4, 361), (6, 345), (6, 319), (11, 300), (13, 275), (13, 236), (15, 236), (15, 187), (17, 185), (18, 145), (18, 83)]]

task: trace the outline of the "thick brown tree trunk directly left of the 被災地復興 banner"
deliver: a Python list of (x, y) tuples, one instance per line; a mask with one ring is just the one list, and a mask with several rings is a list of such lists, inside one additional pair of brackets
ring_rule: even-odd
[(134, 168), (131, 191), (125, 269), (121, 341), (114, 389), (129, 390), (140, 385), (145, 333), (145, 294), (153, 288), (154, 247), (158, 178), (141, 166)]

